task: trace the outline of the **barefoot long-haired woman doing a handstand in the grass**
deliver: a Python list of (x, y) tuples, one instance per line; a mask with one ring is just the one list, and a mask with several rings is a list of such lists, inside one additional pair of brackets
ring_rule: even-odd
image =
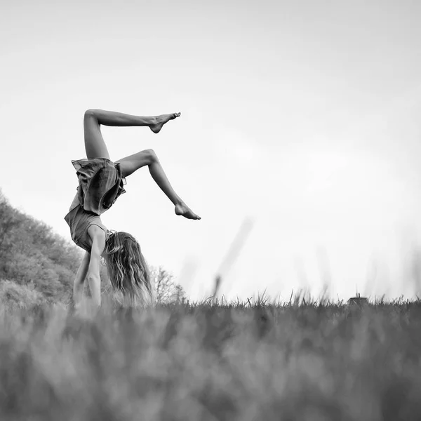
[(123, 185), (128, 175), (148, 166), (156, 184), (175, 205), (175, 213), (192, 220), (201, 219), (174, 192), (152, 149), (112, 162), (100, 131), (100, 125), (103, 124), (147, 126), (154, 133), (159, 133), (165, 123), (179, 117), (180, 114), (142, 117), (102, 109), (88, 109), (85, 112), (83, 129), (87, 159), (72, 161), (79, 179), (79, 187), (69, 213), (65, 216), (72, 240), (86, 250), (74, 280), (73, 298), (76, 307), (79, 307), (83, 298), (86, 274), (92, 300), (100, 306), (101, 257), (107, 262), (107, 272), (113, 288), (121, 291), (125, 299), (142, 304), (152, 302), (149, 272), (138, 241), (127, 232), (110, 232), (100, 219), (100, 215), (125, 192)]

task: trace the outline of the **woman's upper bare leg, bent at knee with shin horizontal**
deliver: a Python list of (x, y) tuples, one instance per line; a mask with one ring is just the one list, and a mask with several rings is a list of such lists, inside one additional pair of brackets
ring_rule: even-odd
[(86, 156), (88, 158), (109, 159), (107, 145), (105, 145), (101, 134), (101, 124), (104, 126), (148, 126), (154, 133), (159, 133), (165, 123), (180, 115), (181, 113), (178, 112), (142, 117), (121, 112), (104, 111), (103, 109), (88, 109), (83, 118)]

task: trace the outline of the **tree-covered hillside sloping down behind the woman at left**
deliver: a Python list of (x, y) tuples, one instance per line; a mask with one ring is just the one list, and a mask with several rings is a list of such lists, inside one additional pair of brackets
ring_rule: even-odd
[(82, 254), (44, 222), (13, 208), (0, 191), (2, 295), (7, 286), (10, 299), (69, 302)]

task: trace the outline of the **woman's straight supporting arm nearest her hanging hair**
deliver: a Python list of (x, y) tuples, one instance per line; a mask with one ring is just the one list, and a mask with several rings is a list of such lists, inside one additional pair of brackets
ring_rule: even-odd
[(101, 305), (100, 258), (105, 249), (105, 232), (97, 225), (91, 225), (88, 234), (92, 239), (91, 258), (88, 267), (88, 282), (92, 300)]

